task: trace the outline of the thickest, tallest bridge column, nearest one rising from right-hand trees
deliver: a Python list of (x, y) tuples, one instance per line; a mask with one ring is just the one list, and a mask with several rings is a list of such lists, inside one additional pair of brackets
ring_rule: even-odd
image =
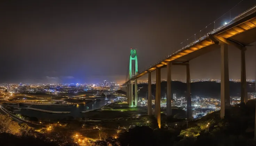
[(227, 49), (227, 44), (221, 44), (221, 118), (225, 116), (225, 108), (230, 106), (229, 59)]

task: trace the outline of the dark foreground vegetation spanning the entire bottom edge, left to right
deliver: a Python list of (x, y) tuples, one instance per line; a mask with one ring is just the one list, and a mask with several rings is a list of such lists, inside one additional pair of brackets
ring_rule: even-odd
[(41, 134), (25, 124), (17, 126), (0, 115), (1, 146), (256, 146), (254, 139), (255, 100), (189, 122), (188, 129), (158, 129), (137, 126), (116, 136), (87, 143), (75, 143), (61, 133)]

